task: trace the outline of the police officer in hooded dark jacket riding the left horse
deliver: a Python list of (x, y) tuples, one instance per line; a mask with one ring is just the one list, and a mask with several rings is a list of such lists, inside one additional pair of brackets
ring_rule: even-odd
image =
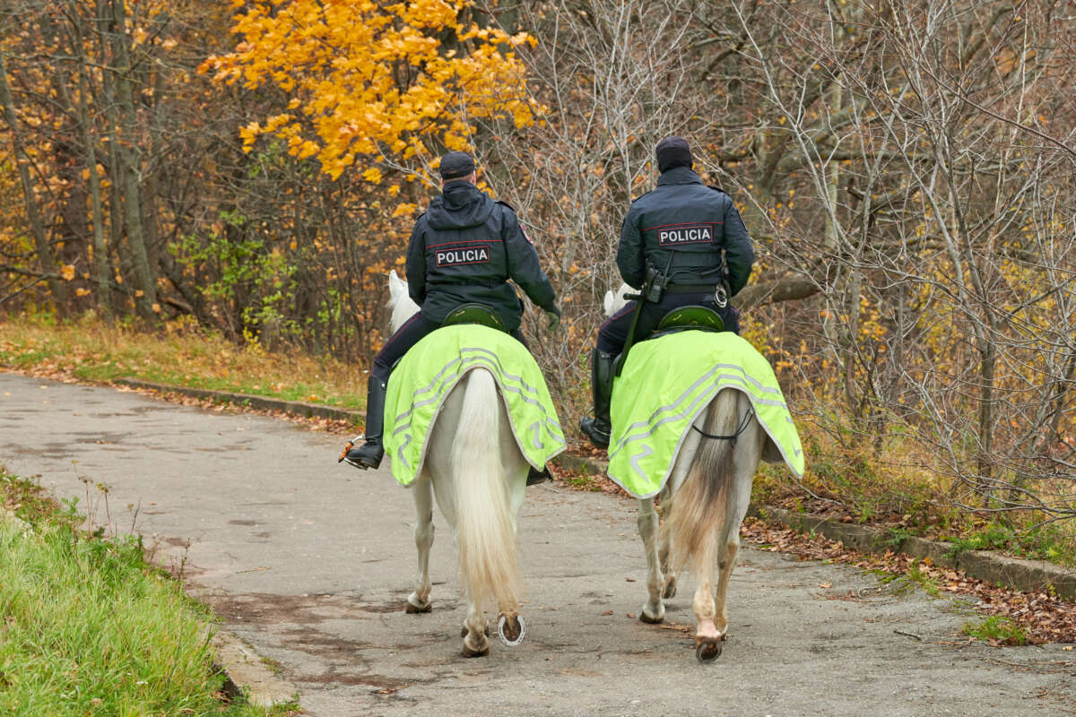
[(523, 302), (508, 284), (519, 284), (549, 316), (561, 321), (553, 287), (538, 264), (538, 253), (520, 227), (515, 212), (475, 186), (475, 160), (463, 152), (441, 158), (441, 196), (414, 223), (407, 249), (408, 293), (422, 310), (388, 339), (373, 359), (366, 398), (366, 443), (348, 451), (355, 468), (378, 468), (384, 456), (388, 375), (408, 349), (441, 326), (463, 304), (492, 310), (506, 330), (523, 342)]

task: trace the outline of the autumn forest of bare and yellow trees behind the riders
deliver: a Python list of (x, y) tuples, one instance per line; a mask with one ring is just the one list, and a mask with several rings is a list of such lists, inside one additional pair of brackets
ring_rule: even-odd
[(1072, 556), (1074, 41), (1063, 0), (5, 0), (0, 312), (360, 372), (467, 149), (557, 290), (524, 330), (571, 433), (680, 134), (755, 242), (744, 335), (809, 454), (775, 496)]

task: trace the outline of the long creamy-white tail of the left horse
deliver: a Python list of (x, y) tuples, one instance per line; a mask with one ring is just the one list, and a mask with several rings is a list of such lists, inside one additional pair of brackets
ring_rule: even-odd
[(476, 369), (465, 382), (452, 450), (459, 572), (471, 600), (514, 607), (522, 578), (499, 445), (507, 417), (492, 374)]

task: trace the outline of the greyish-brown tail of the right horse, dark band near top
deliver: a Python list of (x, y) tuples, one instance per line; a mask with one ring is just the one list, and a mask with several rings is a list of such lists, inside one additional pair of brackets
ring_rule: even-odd
[[(704, 428), (712, 435), (732, 435), (739, 421), (738, 391), (724, 389), (710, 402)], [(696, 570), (712, 563), (718, 528), (725, 520), (734, 475), (733, 442), (704, 438), (683, 485), (672, 497), (664, 530), (671, 539), (669, 564), (679, 573), (689, 560)]]

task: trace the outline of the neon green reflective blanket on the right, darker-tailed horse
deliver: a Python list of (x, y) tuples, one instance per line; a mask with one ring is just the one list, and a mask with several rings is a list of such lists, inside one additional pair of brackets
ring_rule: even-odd
[(655, 496), (691, 425), (723, 388), (751, 400), (773, 444), (764, 453), (779, 451), (803, 475), (799, 434), (765, 357), (730, 331), (681, 331), (632, 346), (612, 392), (609, 477), (637, 498)]

